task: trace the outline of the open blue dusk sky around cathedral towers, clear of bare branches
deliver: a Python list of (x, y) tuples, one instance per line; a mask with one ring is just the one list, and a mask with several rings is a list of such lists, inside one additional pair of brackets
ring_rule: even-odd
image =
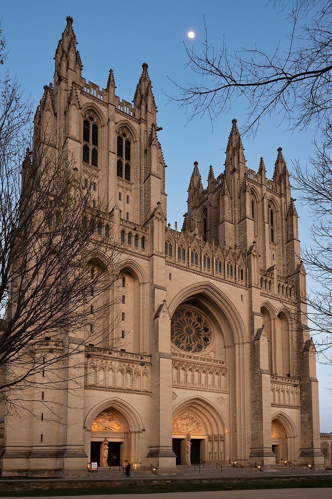
[[(210, 164), (215, 176), (219, 175), (223, 170), (231, 120), (237, 118), (240, 128), (246, 118), (246, 103), (239, 100), (220, 116), (213, 133), (207, 117), (196, 118), (185, 126), (184, 109), (178, 109), (175, 102), (167, 104), (165, 95), (176, 93), (170, 80), (182, 84), (192, 80), (190, 70), (185, 69), (183, 41), (199, 50), (205, 39), (204, 15), (209, 40), (215, 47), (222, 45), (225, 36), (229, 50), (253, 48), (256, 44), (272, 51), (279, 42), (286, 47), (291, 26), (285, 12), (277, 13), (265, 0), (3, 2), (1, 27), (10, 49), (6, 67), (17, 74), (24, 94), (36, 105), (43, 85), (53, 81), (54, 52), (67, 15), (74, 19), (77, 48), (84, 65), (82, 75), (87, 80), (105, 87), (112, 67), (117, 95), (132, 101), (141, 65), (148, 62), (159, 110), (158, 125), (163, 127), (159, 139), (168, 165), (167, 218), (172, 227), (175, 220), (181, 226), (193, 162), (198, 161), (203, 185)], [(193, 40), (187, 37), (189, 30), (195, 32)], [(290, 132), (287, 123), (280, 124), (279, 116), (266, 118), (254, 138), (243, 140), (247, 166), (257, 171), (263, 156), (267, 174), (272, 178), (279, 146), (283, 147), (289, 170), (294, 160), (306, 165), (313, 152), (312, 135), (313, 130)], [(293, 196), (296, 197), (296, 193)], [(302, 244), (310, 244), (307, 210), (299, 203), (297, 209), (300, 239)], [(331, 367), (318, 364), (321, 431), (327, 432), (332, 431), (332, 398), (328, 391), (332, 386), (328, 375), (331, 371)]]

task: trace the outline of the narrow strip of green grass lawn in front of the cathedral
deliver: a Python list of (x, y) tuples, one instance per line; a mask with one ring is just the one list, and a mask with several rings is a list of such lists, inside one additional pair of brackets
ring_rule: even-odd
[(299, 489), (308, 487), (332, 487), (332, 480), (278, 480), (265, 482), (257, 480), (248, 483), (221, 483), (221, 484), (169, 484), (144, 485), (127, 487), (98, 487), (91, 489), (57, 489), (49, 491), (22, 491), (2, 492), (5, 497), (40, 497), (40, 496), (93, 496), (111, 494), (161, 494), (163, 492), (203, 492), (203, 491), (236, 491), (257, 489)]

